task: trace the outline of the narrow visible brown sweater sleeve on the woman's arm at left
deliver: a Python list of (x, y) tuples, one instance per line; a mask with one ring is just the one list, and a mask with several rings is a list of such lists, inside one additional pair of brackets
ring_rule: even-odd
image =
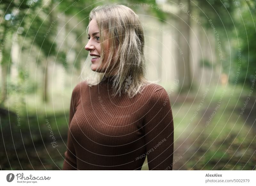
[(78, 85), (74, 88), (70, 101), (70, 110), (69, 110), (69, 124), (68, 124), (68, 142), (67, 142), (67, 151), (65, 152), (65, 160), (62, 170), (77, 170), (76, 168), (76, 151), (73, 145), (70, 132), (70, 123), (76, 112), (76, 103), (78, 99), (78, 93), (80, 89)]

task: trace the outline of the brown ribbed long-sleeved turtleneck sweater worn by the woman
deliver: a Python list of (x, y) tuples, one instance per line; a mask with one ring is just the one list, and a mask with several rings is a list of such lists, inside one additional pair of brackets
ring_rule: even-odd
[(148, 85), (133, 98), (111, 96), (111, 78), (72, 92), (63, 170), (171, 170), (173, 119), (166, 90)]

